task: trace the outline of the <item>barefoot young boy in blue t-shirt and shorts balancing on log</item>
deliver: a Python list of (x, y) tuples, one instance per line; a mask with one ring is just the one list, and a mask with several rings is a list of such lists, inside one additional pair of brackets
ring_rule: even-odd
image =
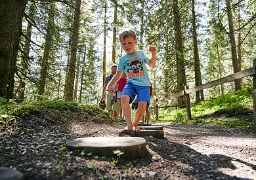
[[(120, 31), (119, 41), (127, 54), (119, 59), (117, 73), (109, 82), (108, 90), (115, 96), (113, 85), (119, 81), (124, 71), (127, 75), (127, 84), (123, 88), (121, 103), (127, 126), (122, 131), (139, 131), (137, 124), (145, 113), (146, 105), (150, 103), (150, 79), (146, 71), (146, 64), (152, 69), (155, 67), (156, 47), (149, 46), (149, 51), (152, 55), (151, 59), (148, 58), (144, 50), (137, 51), (135, 48), (138, 42), (136, 33), (129, 28)], [(138, 109), (133, 122), (131, 122), (131, 107), (129, 103), (133, 101), (136, 95)]]

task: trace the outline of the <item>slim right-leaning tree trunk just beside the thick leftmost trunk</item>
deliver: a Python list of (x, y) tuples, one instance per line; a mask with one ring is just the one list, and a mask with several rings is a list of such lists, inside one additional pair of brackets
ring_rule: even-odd
[[(33, 20), (33, 16), (35, 15), (35, 6), (33, 3), (30, 6), (29, 17)], [(26, 75), (28, 73), (28, 63), (30, 59), (30, 39), (32, 36), (32, 22), (28, 22), (27, 31), (26, 31), (26, 39), (24, 44), (24, 57), (22, 58), (22, 75), (20, 76), (19, 82), (19, 90), (18, 90), (18, 99), (20, 101), (24, 101), (25, 97), (25, 86), (26, 86)]]

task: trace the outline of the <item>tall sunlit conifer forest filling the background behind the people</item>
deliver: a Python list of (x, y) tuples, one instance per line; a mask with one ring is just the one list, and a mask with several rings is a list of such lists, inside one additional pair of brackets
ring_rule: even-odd
[[(153, 99), (247, 69), (256, 58), (255, 0), (2, 0), (0, 17), (5, 99), (98, 103), (110, 66), (124, 54), (123, 27), (137, 31), (138, 50), (157, 48)], [(192, 99), (251, 84), (238, 79)]]

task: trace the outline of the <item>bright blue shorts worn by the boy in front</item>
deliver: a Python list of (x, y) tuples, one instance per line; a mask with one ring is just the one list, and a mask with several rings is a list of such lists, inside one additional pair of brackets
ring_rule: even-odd
[(127, 82), (123, 88), (123, 94), (130, 96), (129, 103), (132, 103), (137, 95), (136, 103), (139, 101), (146, 101), (150, 104), (150, 86), (137, 86), (131, 82)]

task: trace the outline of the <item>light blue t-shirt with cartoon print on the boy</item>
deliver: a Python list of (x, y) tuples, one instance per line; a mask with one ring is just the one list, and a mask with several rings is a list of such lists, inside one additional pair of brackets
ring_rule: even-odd
[(117, 71), (124, 71), (127, 75), (127, 82), (132, 82), (137, 86), (150, 86), (150, 79), (146, 71), (146, 63), (150, 58), (144, 50), (137, 50), (135, 54), (121, 57), (119, 59)]

